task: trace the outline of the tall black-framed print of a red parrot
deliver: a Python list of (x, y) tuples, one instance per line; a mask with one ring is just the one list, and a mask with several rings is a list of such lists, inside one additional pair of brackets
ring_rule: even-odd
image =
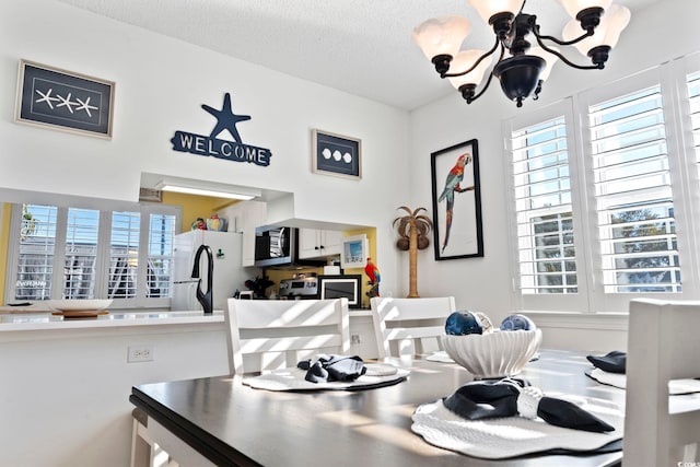
[(477, 140), (431, 154), (435, 259), (483, 256)]

